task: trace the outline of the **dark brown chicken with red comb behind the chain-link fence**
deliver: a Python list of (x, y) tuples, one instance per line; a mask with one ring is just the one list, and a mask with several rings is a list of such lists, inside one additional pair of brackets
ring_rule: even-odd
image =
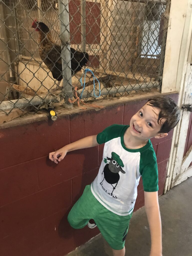
[[(43, 22), (35, 20), (32, 27), (39, 32), (39, 55), (48, 69), (51, 71), (53, 78), (58, 81), (62, 80), (62, 64), (61, 64), (61, 47), (53, 41), (51, 33), (47, 25)], [(80, 71), (89, 60), (86, 52), (71, 51), (71, 76)], [(60, 82), (59, 82), (60, 83)], [(58, 85), (59, 85), (58, 83)]]

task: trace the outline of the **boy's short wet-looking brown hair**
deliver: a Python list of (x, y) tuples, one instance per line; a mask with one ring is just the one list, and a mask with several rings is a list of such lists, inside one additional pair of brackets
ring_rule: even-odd
[(161, 109), (158, 116), (158, 124), (161, 124), (162, 118), (166, 121), (161, 126), (160, 133), (167, 133), (172, 130), (180, 119), (180, 111), (175, 101), (168, 97), (157, 96), (147, 101), (147, 105)]

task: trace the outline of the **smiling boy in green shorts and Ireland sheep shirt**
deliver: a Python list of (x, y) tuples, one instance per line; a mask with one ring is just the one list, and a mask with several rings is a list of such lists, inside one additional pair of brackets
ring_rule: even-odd
[[(176, 103), (155, 97), (132, 116), (130, 125), (111, 125), (97, 135), (85, 137), (51, 152), (49, 159), (60, 162), (67, 152), (105, 143), (99, 173), (68, 215), (70, 225), (98, 226), (113, 256), (125, 255), (125, 238), (143, 180), (145, 210), (151, 233), (150, 256), (162, 256), (161, 217), (158, 205), (158, 170), (150, 138), (167, 136), (180, 118)], [(95, 224), (89, 222), (94, 219)]]

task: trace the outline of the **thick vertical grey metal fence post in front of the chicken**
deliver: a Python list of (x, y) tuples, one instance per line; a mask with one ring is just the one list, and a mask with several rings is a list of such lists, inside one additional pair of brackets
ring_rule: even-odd
[(73, 98), (71, 81), (71, 51), (70, 51), (70, 32), (69, 32), (69, 1), (59, 0), (59, 24), (61, 39), (61, 61), (63, 74), (63, 93), (66, 95), (66, 108), (72, 108), (73, 104), (68, 102)]

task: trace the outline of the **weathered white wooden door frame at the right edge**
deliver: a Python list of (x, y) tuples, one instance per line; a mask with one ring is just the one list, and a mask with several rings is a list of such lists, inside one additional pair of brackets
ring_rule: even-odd
[[(171, 0), (166, 40), (162, 93), (178, 92), (178, 106), (190, 104), (192, 91), (192, 0)], [(190, 112), (181, 110), (181, 118), (174, 129), (164, 193), (192, 175), (186, 170), (191, 153), (183, 162)], [(190, 163), (189, 163), (190, 164)]]

